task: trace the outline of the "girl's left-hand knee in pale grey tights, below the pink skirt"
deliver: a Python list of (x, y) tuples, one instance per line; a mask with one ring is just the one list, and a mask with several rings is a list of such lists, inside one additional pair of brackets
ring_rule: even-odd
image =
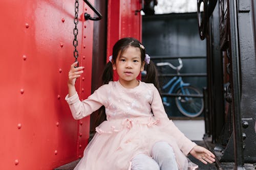
[(160, 170), (160, 168), (151, 157), (138, 154), (132, 159), (132, 170)]

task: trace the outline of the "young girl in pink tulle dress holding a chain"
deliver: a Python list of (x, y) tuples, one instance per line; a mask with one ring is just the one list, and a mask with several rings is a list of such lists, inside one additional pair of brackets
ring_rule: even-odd
[[(75, 89), (83, 67), (75, 68), (76, 64), (69, 71), (66, 96), (73, 117), (81, 119), (101, 106), (106, 115), (76, 170), (197, 168), (186, 158), (189, 153), (203, 163), (215, 161), (214, 154), (186, 138), (168, 119), (158, 92), (156, 67), (138, 40), (116, 42), (103, 73), (104, 85), (83, 101)], [(147, 83), (137, 80), (145, 65)], [(118, 81), (112, 81), (113, 70)]]

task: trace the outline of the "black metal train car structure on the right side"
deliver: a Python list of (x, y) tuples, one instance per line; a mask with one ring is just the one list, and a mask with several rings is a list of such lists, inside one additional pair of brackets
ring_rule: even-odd
[[(204, 140), (234, 169), (256, 162), (255, 8), (253, 1), (198, 1), (200, 38), (207, 40)], [(254, 37), (254, 38), (253, 38)]]

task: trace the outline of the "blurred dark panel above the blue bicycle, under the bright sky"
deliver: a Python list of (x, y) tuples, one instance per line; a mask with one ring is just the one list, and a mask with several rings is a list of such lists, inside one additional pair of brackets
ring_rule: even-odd
[(152, 56), (206, 56), (198, 37), (197, 13), (143, 16), (142, 41)]

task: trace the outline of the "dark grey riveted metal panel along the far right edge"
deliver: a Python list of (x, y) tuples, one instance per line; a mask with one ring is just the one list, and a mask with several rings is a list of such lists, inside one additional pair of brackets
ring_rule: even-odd
[[(241, 82), (241, 118), (237, 120), (237, 125), (247, 121), (248, 127), (242, 128), (237, 135), (243, 138), (243, 152), (245, 162), (256, 162), (256, 133), (253, 127), (256, 119), (256, 58), (255, 47), (253, 39), (253, 24), (251, 6), (249, 0), (238, 1), (238, 46), (239, 46), (239, 60), (240, 65), (240, 82)], [(239, 118), (239, 117), (237, 117)], [(244, 126), (243, 126), (244, 127)], [(241, 134), (243, 133), (243, 134)], [(246, 136), (246, 137), (245, 137)], [(241, 140), (240, 138), (236, 141)], [(238, 154), (240, 154), (238, 152)], [(239, 164), (238, 164), (239, 165)]]

